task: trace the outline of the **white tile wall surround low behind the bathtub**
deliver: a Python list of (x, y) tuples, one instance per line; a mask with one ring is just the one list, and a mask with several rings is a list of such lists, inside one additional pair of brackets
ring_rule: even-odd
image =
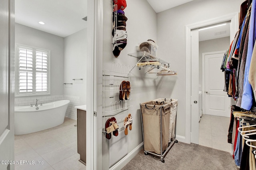
[(66, 111), (66, 117), (69, 117), (70, 119), (77, 119), (76, 115), (76, 108), (75, 106), (80, 105), (80, 97), (76, 96), (68, 96), (68, 95), (56, 95), (56, 96), (33, 96), (33, 97), (26, 97), (26, 98), (15, 98), (14, 99), (14, 106), (28, 106), (28, 105), (35, 105), (36, 99), (39, 99), (39, 104), (42, 103), (51, 103), (54, 101), (60, 101), (60, 100), (70, 100), (70, 103), (68, 104), (68, 108)]

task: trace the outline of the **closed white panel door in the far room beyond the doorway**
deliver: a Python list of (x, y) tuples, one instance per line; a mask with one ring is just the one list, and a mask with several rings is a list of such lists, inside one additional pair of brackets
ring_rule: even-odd
[(223, 91), (225, 79), (220, 69), (225, 51), (204, 53), (205, 114), (230, 117), (230, 98)]

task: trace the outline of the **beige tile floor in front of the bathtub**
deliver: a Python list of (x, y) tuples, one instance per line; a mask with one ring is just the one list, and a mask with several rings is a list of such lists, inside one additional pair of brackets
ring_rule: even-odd
[(80, 155), (74, 125), (75, 120), (65, 117), (64, 123), (57, 127), (15, 135), (15, 161), (31, 161), (31, 164), (15, 164), (15, 170), (85, 170), (86, 166), (78, 161)]

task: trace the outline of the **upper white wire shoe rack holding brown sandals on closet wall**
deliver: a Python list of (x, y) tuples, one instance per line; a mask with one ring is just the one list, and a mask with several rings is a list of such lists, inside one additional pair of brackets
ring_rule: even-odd
[[(120, 89), (122, 81), (130, 82), (130, 91), (132, 91), (132, 82), (130, 81), (132, 66), (113, 62), (110, 70), (103, 70), (102, 76), (102, 118), (105, 123), (108, 118), (114, 117), (132, 107), (132, 99), (120, 100), (119, 94), (124, 89)], [(127, 113), (128, 115), (128, 113)], [(118, 132), (124, 131), (124, 118), (116, 120), (119, 126)], [(105, 127), (102, 130), (106, 133)]]

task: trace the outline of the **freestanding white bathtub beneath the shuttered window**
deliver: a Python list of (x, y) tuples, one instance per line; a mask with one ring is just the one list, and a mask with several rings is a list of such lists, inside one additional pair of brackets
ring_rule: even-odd
[(62, 100), (37, 107), (14, 107), (14, 134), (28, 134), (61, 125), (69, 102)]

